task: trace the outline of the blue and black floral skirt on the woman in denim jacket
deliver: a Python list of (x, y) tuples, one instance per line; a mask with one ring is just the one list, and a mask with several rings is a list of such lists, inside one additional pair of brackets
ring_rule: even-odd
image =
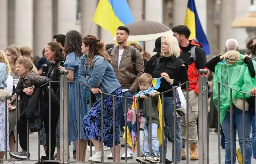
[[(111, 95), (122, 96), (121, 87), (116, 89)], [(116, 109), (121, 105), (122, 98), (115, 97)], [(104, 117), (104, 144), (105, 146), (113, 146), (113, 98), (107, 96), (103, 99), (103, 117)], [(116, 110), (116, 116), (117, 116)], [(116, 118), (116, 145), (120, 144), (119, 126)], [(92, 108), (88, 111), (84, 117), (84, 135), (89, 138), (101, 141), (101, 101), (97, 101), (93, 104)]]

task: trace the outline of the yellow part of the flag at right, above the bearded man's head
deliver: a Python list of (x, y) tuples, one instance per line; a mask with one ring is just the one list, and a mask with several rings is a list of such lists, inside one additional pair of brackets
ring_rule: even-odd
[(189, 8), (187, 8), (186, 11), (186, 17), (185, 17), (185, 23), (184, 25), (188, 26), (190, 30), (190, 38), (196, 38), (196, 19), (195, 19), (195, 13), (191, 11)]

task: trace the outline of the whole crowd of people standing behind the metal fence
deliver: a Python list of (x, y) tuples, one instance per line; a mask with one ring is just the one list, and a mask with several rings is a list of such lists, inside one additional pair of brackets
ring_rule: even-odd
[[(143, 129), (143, 153), (136, 160), (142, 163), (181, 163), (181, 160), (188, 158), (185, 153), (185, 143), (188, 140), (190, 148), (190, 160), (198, 160), (197, 142), (198, 142), (198, 77), (199, 69), (208, 69), (214, 73), (213, 80), (218, 80), (230, 87), (250, 93), (255, 96), (255, 50), (254, 39), (249, 45), (250, 54), (241, 55), (238, 50), (238, 42), (235, 39), (229, 39), (226, 44), (227, 52), (214, 57), (212, 60), (206, 60), (206, 54), (202, 49), (203, 45), (196, 39), (189, 39), (190, 30), (185, 25), (178, 25), (172, 28), (172, 36), (159, 36), (156, 38), (155, 55), (150, 57), (143, 52), (141, 46), (137, 43), (127, 44), (129, 29), (125, 26), (119, 26), (116, 31), (116, 42), (114, 44), (104, 45), (103, 41), (95, 36), (87, 35), (84, 38), (77, 31), (69, 31), (66, 35), (58, 34), (53, 36), (53, 41), (46, 44), (44, 57), (31, 58), (32, 49), (24, 46), (18, 48), (10, 45), (5, 52), (0, 51), (0, 96), (8, 91), (10, 98), (7, 98), (7, 115), (5, 115), (5, 100), (0, 99), (0, 159), (3, 159), (4, 152), (10, 151), (10, 157), (18, 160), (27, 159), (30, 153), (27, 151), (27, 120), (29, 129), (32, 132), (40, 132), (40, 145), (44, 146), (45, 156), (42, 160), (60, 159), (60, 84), (54, 81), (60, 81), (60, 70), (68, 70), (69, 83), (69, 107), (68, 107), (68, 138), (73, 142), (73, 157), (76, 161), (85, 161), (86, 151), (88, 150), (88, 141), (93, 144), (95, 153), (88, 159), (90, 162), (100, 162), (103, 157), (115, 161), (125, 159), (125, 154), (120, 154), (122, 129), (125, 126), (126, 104), (128, 108), (132, 107), (133, 96), (138, 98), (140, 108), (149, 120), (148, 111), (151, 110), (152, 125), (146, 121)], [(237, 46), (236, 46), (237, 44)], [(234, 46), (235, 45), (235, 46)], [(224, 59), (224, 60), (223, 60)], [(224, 61), (224, 62), (223, 62)], [(235, 66), (234, 66), (235, 65)], [(234, 67), (231, 67), (234, 66)], [(238, 73), (230, 73), (231, 68), (236, 68)], [(225, 70), (225, 71), (223, 71)], [(239, 72), (240, 71), (240, 72)], [(242, 72), (243, 71), (243, 74)], [(240, 74), (239, 74), (240, 73)], [(152, 88), (154, 78), (161, 78), (159, 88)], [(230, 80), (232, 79), (232, 80)], [(168, 91), (173, 86), (189, 81), (188, 95), (186, 85), (181, 86), (185, 97), (188, 96), (188, 120), (186, 117), (174, 117), (174, 97), (173, 92)], [(50, 82), (50, 84), (49, 84)], [(82, 83), (79, 85), (78, 82)], [(80, 88), (78, 88), (80, 87)], [(217, 85), (209, 83), (209, 90), (212, 91), (213, 107), (218, 106)], [(252, 90), (251, 90), (252, 89)], [(80, 91), (78, 91), (80, 90)], [(167, 91), (167, 92), (166, 92)], [(158, 96), (159, 92), (164, 92), (164, 97)], [(92, 107), (89, 108), (90, 93), (92, 93)], [(111, 149), (111, 154), (106, 156), (102, 154), (101, 148), (101, 93), (103, 96), (103, 122), (104, 122), (104, 150)], [(79, 95), (80, 94), (80, 95)], [(230, 104), (228, 103), (228, 91), (223, 88), (224, 96), (220, 100), (221, 125), (223, 137), (225, 138), (226, 157), (225, 163), (228, 164), (233, 158), (243, 154), (243, 124), (241, 94), (233, 93), (233, 116), (230, 116)], [(227, 95), (225, 95), (227, 94)], [(113, 96), (109, 96), (113, 95)], [(217, 95), (217, 96), (216, 96)], [(49, 100), (50, 96), (50, 100)], [(130, 97), (122, 99), (121, 96)], [(148, 96), (152, 96), (151, 105)], [(255, 128), (255, 113), (253, 105), (255, 102), (246, 96), (247, 103), (245, 110), (246, 127)], [(80, 99), (79, 99), (80, 97)], [(113, 120), (113, 99), (115, 99), (116, 120)], [(157, 133), (160, 127), (159, 113), (157, 104), (160, 100), (164, 101), (164, 137), (165, 140), (159, 144)], [(18, 107), (15, 106), (18, 101)], [(80, 104), (78, 105), (78, 102)], [(80, 107), (80, 109), (78, 109)], [(40, 108), (40, 111), (38, 110)], [(19, 110), (19, 119), (15, 121), (15, 110)], [(78, 112), (78, 110), (80, 110)], [(255, 111), (255, 110), (254, 110)], [(49, 118), (49, 113), (51, 118)], [(80, 113), (80, 115), (78, 115)], [(5, 118), (7, 117), (7, 129), (5, 129)], [(80, 118), (80, 122), (78, 122)], [(233, 143), (234, 157), (230, 156), (230, 119), (233, 118), (233, 136), (238, 132), (241, 148), (236, 149), (235, 140)], [(51, 124), (49, 124), (49, 119)], [(173, 124), (174, 119), (176, 124)], [(253, 122), (254, 120), (254, 122)], [(188, 125), (186, 124), (188, 122)], [(253, 123), (252, 123), (253, 122)], [(136, 125), (137, 122), (134, 124)], [(248, 126), (247, 126), (248, 125)], [(15, 150), (15, 127), (19, 136), (20, 151)], [(80, 134), (78, 127), (80, 126)], [(136, 125), (137, 126), (137, 125)], [(176, 132), (174, 133), (174, 126)], [(186, 127), (188, 126), (188, 132)], [(152, 134), (152, 154), (149, 152), (149, 127)], [(113, 129), (116, 133), (113, 134)], [(49, 136), (49, 129), (51, 133)], [(5, 138), (7, 130), (7, 138)], [(188, 138), (186, 138), (188, 133)], [(254, 131), (255, 133), (255, 131)], [(252, 150), (255, 145), (251, 141), (251, 128), (245, 132), (245, 163), (251, 162)], [(174, 135), (176, 140), (174, 141)], [(78, 137), (79, 136), (79, 137)], [(49, 138), (50, 137), (50, 138)], [(113, 144), (115, 137), (116, 143)], [(80, 143), (78, 143), (80, 138)], [(234, 139), (235, 137), (233, 137)], [(49, 139), (51, 143), (49, 145)], [(7, 150), (5, 150), (5, 141), (7, 140)], [(174, 156), (174, 147), (172, 146), (172, 160), (166, 159), (168, 140), (176, 144), (176, 156)], [(77, 149), (79, 145), (80, 150)], [(115, 152), (113, 147), (115, 146)], [(164, 146), (162, 152), (162, 146)], [(223, 143), (222, 143), (223, 146)], [(49, 148), (51, 151), (49, 152)], [(54, 154), (57, 147), (57, 154)], [(80, 152), (80, 158), (79, 158)], [(162, 158), (164, 161), (162, 161)], [(255, 155), (253, 156), (255, 157)], [(127, 159), (133, 158), (132, 147), (128, 145)], [(238, 159), (239, 163), (243, 159)], [(8, 161), (14, 163), (14, 161)], [(1, 163), (1, 162), (0, 162)], [(52, 163), (52, 162), (51, 162)], [(58, 163), (58, 162), (56, 162)]]

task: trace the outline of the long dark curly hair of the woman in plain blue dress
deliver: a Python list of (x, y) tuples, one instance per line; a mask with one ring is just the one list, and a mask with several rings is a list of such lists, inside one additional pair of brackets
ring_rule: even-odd
[(66, 41), (64, 43), (66, 54), (74, 52), (76, 55), (81, 57), (83, 55), (81, 52), (82, 39), (82, 35), (76, 30), (69, 31), (66, 35)]

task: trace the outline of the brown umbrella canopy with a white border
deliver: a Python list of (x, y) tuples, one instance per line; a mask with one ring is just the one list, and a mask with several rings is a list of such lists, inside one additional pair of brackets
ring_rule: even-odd
[[(155, 40), (160, 36), (172, 35), (169, 27), (162, 23), (142, 20), (126, 25), (130, 30), (128, 42)], [(116, 41), (116, 36), (113, 38)]]

